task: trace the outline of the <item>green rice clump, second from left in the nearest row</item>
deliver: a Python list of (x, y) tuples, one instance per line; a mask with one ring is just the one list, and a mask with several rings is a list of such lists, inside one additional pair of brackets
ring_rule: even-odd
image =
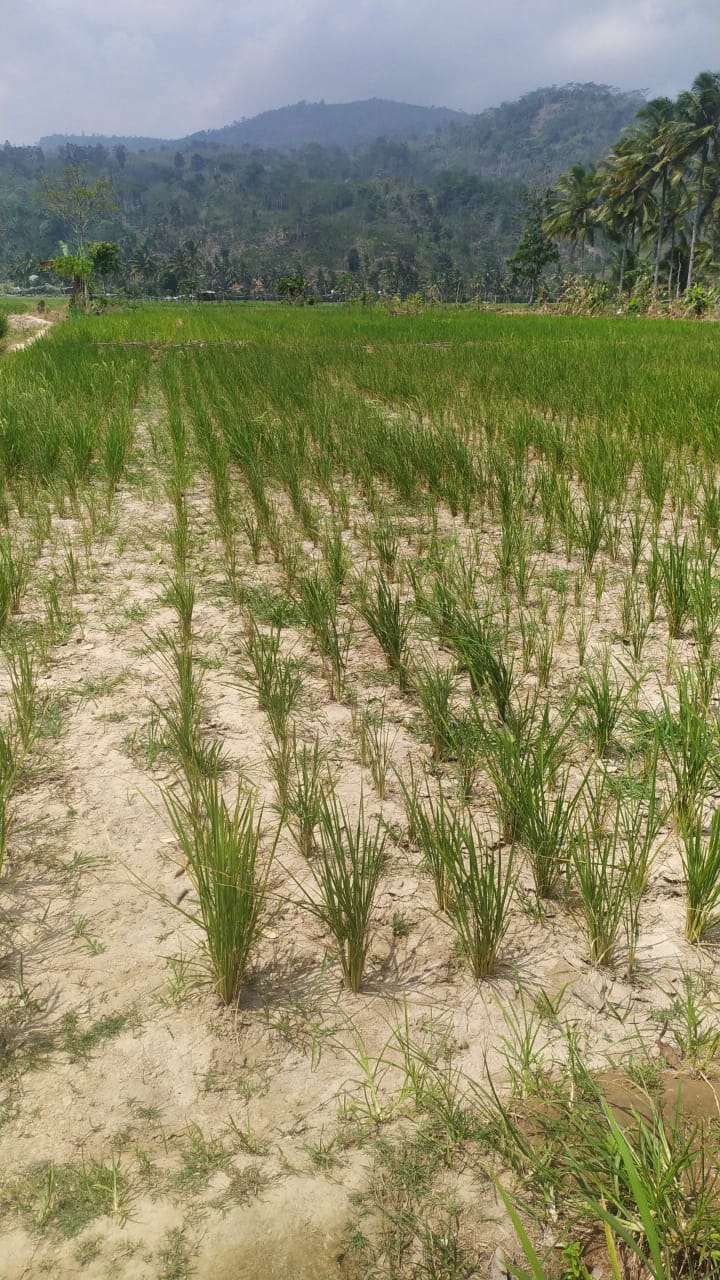
[(305, 904), (332, 933), (345, 986), (357, 992), (370, 945), (373, 902), (386, 861), (387, 831), (379, 822), (374, 831), (368, 828), (363, 799), (352, 823), (334, 792), (323, 796), (318, 831), (313, 877), (319, 896), (305, 892)]

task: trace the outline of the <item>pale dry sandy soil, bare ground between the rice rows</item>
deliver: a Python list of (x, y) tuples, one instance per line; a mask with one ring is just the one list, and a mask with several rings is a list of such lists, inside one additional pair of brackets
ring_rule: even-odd
[[(18, 334), (32, 330), (20, 344), (50, 323), (13, 321)], [(142, 439), (142, 422), (138, 429)], [(258, 787), (270, 832), (277, 815), (266, 719), (238, 678), (242, 620), (227, 598), (202, 486), (191, 495), (191, 521), (206, 727)], [(360, 1051), (375, 1059), (389, 1123), (397, 1073), (386, 1074), (380, 1062), (405, 1015), (419, 1042), (441, 1027), (468, 1076), (483, 1082), (489, 1070), (501, 1082), (501, 1007), (516, 1005), (520, 989), (564, 993), (564, 1016), (603, 1061), (641, 1041), (653, 1044), (652, 1012), (676, 989), (683, 966), (714, 970), (683, 941), (670, 844), (643, 904), (633, 982), (592, 969), (579, 928), (562, 911), (538, 920), (518, 908), (497, 977), (478, 986), (438, 918), (416, 855), (393, 838), (365, 989), (350, 996), (327, 936), (297, 902), (293, 886), (306, 868), (283, 835), (277, 915), (240, 1007), (220, 1010), (197, 980), (199, 937), (172, 908), (188, 883), (161, 813), (169, 764), (152, 751), (152, 704), (168, 696), (154, 640), (173, 623), (163, 603), (169, 527), (159, 477), (149, 474), (143, 485), (119, 493), (113, 527), (96, 530), (87, 558), (81, 521), (55, 517), (54, 549), (46, 547), (37, 567), (42, 573), (59, 566), (64, 544), (81, 561), (78, 590), (67, 599), (72, 623), (42, 677), (59, 723), (44, 737), (18, 799), (1, 902), (10, 1070), (1, 1082), (0, 1167), (1, 1194), (14, 1204), (4, 1220), (1, 1280), (351, 1276), (351, 1196), (368, 1180), (377, 1132), (368, 1124)], [(409, 556), (413, 539), (410, 529)], [(354, 545), (360, 552), (359, 538)], [(245, 572), (281, 589), (265, 553)], [(591, 648), (616, 643), (619, 595), (619, 582), (609, 581)], [(33, 588), (22, 613), (41, 612)], [(363, 788), (368, 813), (402, 831), (400, 786), (391, 780), (387, 797), (374, 796), (351, 712), (328, 701), (307, 636), (287, 628), (284, 643), (309, 660), (300, 728), (319, 730), (340, 797), (356, 804)], [(660, 632), (650, 636), (648, 658), (664, 662)], [(556, 662), (575, 678), (570, 628)], [(410, 755), (421, 758), (416, 709), (388, 682), (365, 634), (354, 646), (352, 680), (361, 701), (386, 700), (397, 768)], [(492, 833), (487, 785), (475, 809)], [(44, 1174), (33, 1181), (38, 1166)], [(100, 1166), (115, 1170), (113, 1211), (64, 1230), (53, 1217), (61, 1178), (85, 1167), (96, 1184)], [(478, 1221), (487, 1217), (477, 1243), (489, 1266), (507, 1236), (503, 1215), (487, 1188), (473, 1194)]]

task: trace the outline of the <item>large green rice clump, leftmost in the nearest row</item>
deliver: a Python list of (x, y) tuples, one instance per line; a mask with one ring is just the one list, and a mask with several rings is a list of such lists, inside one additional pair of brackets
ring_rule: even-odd
[(176, 909), (202, 929), (213, 987), (224, 1005), (240, 997), (263, 936), (274, 846), (261, 852), (261, 814), (238, 787), (228, 805), (217, 773), (196, 780), (192, 796), (161, 792), (163, 805), (197, 895), (197, 909)]

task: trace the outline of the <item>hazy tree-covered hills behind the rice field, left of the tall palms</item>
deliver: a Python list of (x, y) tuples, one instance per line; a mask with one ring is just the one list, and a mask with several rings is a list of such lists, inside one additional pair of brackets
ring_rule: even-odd
[[(337, 273), (350, 273), (356, 288), (406, 293), (432, 283), (455, 298), (473, 282), (507, 274), (523, 188), (544, 187), (573, 164), (600, 160), (642, 101), (597, 84), (544, 88), (425, 136), (415, 120), (411, 136), (392, 137), (383, 125), (372, 141), (346, 147), (300, 145), (309, 137), (302, 120), (307, 127), (331, 120), (325, 113), (337, 110), (322, 104), (265, 113), (159, 148), (133, 151), (126, 140), (106, 145), (87, 137), (58, 150), (6, 143), (0, 280), (27, 282), (60, 241), (72, 239), (47, 191), (63, 184), (68, 166), (79, 166), (85, 182), (109, 184), (115, 207), (94, 218), (87, 234), (119, 244), (126, 287), (160, 293), (237, 287), (254, 296), (272, 292), (283, 274), (299, 274), (323, 296)], [(348, 128), (359, 128), (357, 105), (368, 108), (346, 104)], [(389, 105), (424, 110), (425, 120), (443, 118), (439, 109)], [(374, 104), (373, 129), (386, 106)], [(336, 128), (340, 116), (332, 119)], [(274, 143), (236, 141), (236, 128), (260, 128), (263, 120)]]

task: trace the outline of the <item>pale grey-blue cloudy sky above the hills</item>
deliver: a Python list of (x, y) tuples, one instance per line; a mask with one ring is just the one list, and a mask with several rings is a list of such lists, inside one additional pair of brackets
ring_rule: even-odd
[(674, 96), (720, 0), (0, 0), (0, 141), (179, 138), (290, 102), (482, 111), (594, 81)]

